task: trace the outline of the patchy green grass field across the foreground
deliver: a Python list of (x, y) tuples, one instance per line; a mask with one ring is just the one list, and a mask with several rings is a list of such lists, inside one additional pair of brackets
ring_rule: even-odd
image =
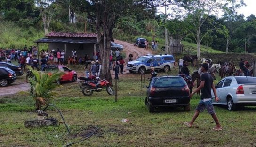
[[(73, 66), (72, 69), (81, 72), (80, 66)], [(176, 75), (177, 68), (167, 74)], [(149, 76), (146, 74), (145, 79)], [(61, 117), (52, 107), (47, 112), (59, 120), (57, 127), (25, 128), (25, 120), (36, 118), (32, 97), (21, 94), (2, 96), (0, 146), (61, 147), (72, 142), (75, 142), (72, 146), (78, 147), (256, 146), (256, 107), (229, 112), (225, 107), (216, 106), (224, 130), (215, 132), (211, 131), (215, 123), (207, 112), (200, 114), (192, 128), (183, 125), (184, 121), (192, 118), (199, 96), (192, 98), (190, 112), (173, 108), (149, 113), (143, 96), (140, 96), (141, 76), (138, 74), (127, 74), (120, 78), (116, 103), (114, 96), (109, 96), (105, 90), (92, 96), (83, 96), (77, 83), (66, 82), (62, 85), (56, 89), (59, 96), (52, 103), (62, 111), (71, 134), (67, 133)], [(122, 119), (128, 119), (129, 122), (121, 122)], [(84, 140), (96, 130), (91, 125), (98, 130)]]

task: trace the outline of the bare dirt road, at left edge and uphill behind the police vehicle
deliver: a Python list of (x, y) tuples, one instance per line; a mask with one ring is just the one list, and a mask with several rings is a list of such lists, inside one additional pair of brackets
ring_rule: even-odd
[[(137, 59), (139, 56), (146, 55), (146, 54), (152, 54), (151, 51), (145, 51), (144, 48), (138, 48), (134, 46), (133, 44), (115, 40), (117, 44), (121, 44), (124, 46), (124, 52), (126, 53), (125, 58), (125, 66), (124, 66), (124, 74), (129, 73), (129, 71), (126, 70), (126, 64), (129, 61), (129, 54), (133, 54), (133, 59)], [(25, 76), (25, 75), (23, 75)], [(120, 75), (123, 76), (123, 75)], [(114, 77), (114, 73), (112, 72), (112, 77)], [(15, 94), (20, 91), (28, 91), (30, 89), (30, 86), (28, 83), (25, 82), (24, 78), (17, 77), (16, 81), (14, 83), (11, 83), (8, 87), (0, 87), (0, 96), (6, 96), (10, 94)]]

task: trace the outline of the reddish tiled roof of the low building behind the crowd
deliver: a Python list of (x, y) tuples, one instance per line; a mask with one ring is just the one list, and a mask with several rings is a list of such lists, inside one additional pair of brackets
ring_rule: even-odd
[(83, 37), (94, 38), (97, 37), (96, 33), (67, 33), (67, 32), (50, 32), (45, 35), (46, 37)]

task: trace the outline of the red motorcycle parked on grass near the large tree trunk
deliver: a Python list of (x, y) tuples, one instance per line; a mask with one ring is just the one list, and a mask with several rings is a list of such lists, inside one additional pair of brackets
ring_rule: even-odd
[(85, 96), (90, 96), (92, 95), (93, 91), (95, 92), (101, 92), (102, 88), (106, 87), (107, 93), (109, 95), (114, 95), (115, 91), (112, 88), (113, 84), (105, 79), (103, 80), (98, 80), (97, 82), (95, 81), (84, 81), (84, 84), (86, 85), (82, 89), (82, 93)]

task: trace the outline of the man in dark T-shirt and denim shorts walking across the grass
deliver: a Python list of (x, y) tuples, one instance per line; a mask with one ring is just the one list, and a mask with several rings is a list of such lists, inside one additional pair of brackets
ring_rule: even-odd
[(214, 119), (216, 123), (216, 127), (214, 127), (212, 130), (214, 131), (220, 131), (222, 130), (222, 127), (218, 121), (218, 118), (216, 116), (216, 113), (214, 111), (213, 105), (212, 105), (212, 100), (211, 100), (211, 88), (213, 89), (213, 93), (215, 96), (215, 101), (218, 102), (219, 98), (216, 93), (216, 89), (213, 83), (213, 78), (210, 74), (208, 74), (208, 64), (204, 63), (201, 65), (201, 71), (204, 73), (201, 75), (201, 83), (200, 86), (192, 91), (192, 93), (189, 95), (190, 97), (193, 96), (194, 93), (200, 91), (202, 89), (202, 95), (201, 95), (201, 100), (198, 103), (198, 106), (196, 107), (195, 114), (190, 122), (184, 122), (185, 125), (188, 127), (192, 127), (194, 121), (198, 117), (200, 112), (203, 112), (203, 110), (206, 108), (208, 110), (208, 113), (211, 114), (212, 118)]

